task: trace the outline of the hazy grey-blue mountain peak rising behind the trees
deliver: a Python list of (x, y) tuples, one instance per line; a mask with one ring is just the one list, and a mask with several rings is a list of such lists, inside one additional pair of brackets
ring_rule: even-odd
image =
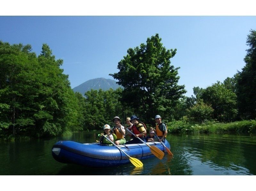
[(95, 78), (88, 80), (79, 86), (73, 88), (74, 92), (80, 92), (83, 96), (84, 93), (90, 91), (91, 89), (102, 89), (104, 91), (109, 90), (110, 88), (116, 90), (117, 88), (122, 87), (116, 83), (115, 80), (110, 80), (106, 78)]

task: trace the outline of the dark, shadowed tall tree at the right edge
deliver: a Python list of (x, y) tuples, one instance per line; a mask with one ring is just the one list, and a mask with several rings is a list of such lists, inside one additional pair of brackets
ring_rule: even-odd
[(245, 119), (256, 118), (256, 31), (250, 32), (246, 41), (249, 49), (244, 57), (245, 66), (238, 72), (236, 93), (239, 114)]

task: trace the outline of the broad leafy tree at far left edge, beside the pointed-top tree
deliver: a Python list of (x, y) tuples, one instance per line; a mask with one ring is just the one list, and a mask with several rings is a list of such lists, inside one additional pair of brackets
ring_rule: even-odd
[[(12, 124), (12, 135), (24, 130), (24, 126), (33, 125), (34, 121), (29, 113), (34, 111), (28, 102), (36, 96), (35, 82), (38, 68), (35, 53), (31, 53), (31, 46), (22, 44), (10, 45), (0, 42), (0, 103), (4, 105), (4, 124)], [(7, 110), (7, 106), (10, 109)], [(8, 118), (8, 119), (7, 119)], [(6, 128), (6, 126), (5, 126)]]

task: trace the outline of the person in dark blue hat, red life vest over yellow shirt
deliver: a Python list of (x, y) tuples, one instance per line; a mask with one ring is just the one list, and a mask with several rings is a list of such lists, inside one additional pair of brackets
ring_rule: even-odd
[[(134, 138), (131, 141), (127, 141), (125, 144), (138, 144), (138, 143), (143, 143), (140, 141), (142, 139), (143, 141), (145, 140), (145, 134), (147, 133), (145, 127), (143, 124), (139, 123), (139, 118), (137, 118), (135, 115), (132, 115), (131, 117), (131, 131), (133, 134), (135, 134)], [(140, 139), (138, 139), (139, 137)]]

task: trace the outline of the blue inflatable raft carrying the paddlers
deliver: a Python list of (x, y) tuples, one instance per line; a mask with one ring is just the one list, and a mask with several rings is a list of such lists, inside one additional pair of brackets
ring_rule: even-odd
[[(166, 153), (166, 149), (160, 142), (147, 142), (147, 144), (154, 145)], [(170, 149), (170, 144), (167, 140), (165, 140), (164, 145)], [(155, 157), (145, 143), (118, 145), (118, 147), (130, 157), (139, 160)], [(100, 145), (100, 143), (58, 141), (52, 147), (52, 156), (61, 163), (73, 163), (93, 168), (130, 163), (129, 157), (117, 149), (116, 146)]]

